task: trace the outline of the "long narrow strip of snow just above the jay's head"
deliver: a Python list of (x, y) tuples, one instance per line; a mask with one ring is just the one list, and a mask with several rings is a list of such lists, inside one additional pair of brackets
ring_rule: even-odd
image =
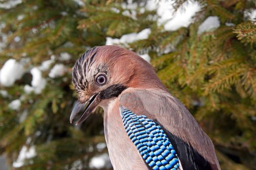
[(146, 28), (139, 33), (130, 33), (130, 34), (124, 34), (121, 36), (120, 39), (118, 38), (111, 38), (107, 37), (106, 45), (114, 45), (114, 44), (127, 44), (132, 43), (134, 41), (147, 39), (149, 34), (151, 33), (150, 28)]

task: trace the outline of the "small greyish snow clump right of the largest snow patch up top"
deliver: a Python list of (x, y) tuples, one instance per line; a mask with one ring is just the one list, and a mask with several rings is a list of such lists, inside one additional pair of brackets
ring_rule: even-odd
[(220, 26), (220, 22), (217, 16), (207, 17), (201, 25), (199, 25), (197, 34), (201, 34), (203, 32), (212, 31)]

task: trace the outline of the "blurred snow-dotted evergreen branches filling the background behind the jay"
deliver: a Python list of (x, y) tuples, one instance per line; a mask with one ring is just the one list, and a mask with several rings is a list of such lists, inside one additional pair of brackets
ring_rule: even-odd
[(0, 0), (0, 170), (112, 170), (102, 110), (69, 116), (75, 61), (113, 44), (156, 68), (222, 170), (256, 170), (255, 0)]

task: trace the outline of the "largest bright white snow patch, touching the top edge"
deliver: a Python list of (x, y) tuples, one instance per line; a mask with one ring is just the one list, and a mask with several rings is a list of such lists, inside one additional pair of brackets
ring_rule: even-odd
[(192, 17), (200, 11), (198, 2), (185, 2), (182, 8), (173, 8), (174, 1), (168, 0), (148, 0), (146, 4), (147, 10), (157, 10), (159, 16), (158, 25), (163, 25), (166, 31), (175, 31), (180, 27), (188, 27), (192, 22)]

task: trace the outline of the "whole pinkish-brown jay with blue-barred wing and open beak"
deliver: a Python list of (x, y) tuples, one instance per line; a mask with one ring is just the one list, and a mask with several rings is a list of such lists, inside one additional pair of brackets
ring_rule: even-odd
[(212, 140), (134, 51), (94, 47), (76, 61), (72, 82), (70, 122), (103, 108), (114, 170), (220, 170)]

